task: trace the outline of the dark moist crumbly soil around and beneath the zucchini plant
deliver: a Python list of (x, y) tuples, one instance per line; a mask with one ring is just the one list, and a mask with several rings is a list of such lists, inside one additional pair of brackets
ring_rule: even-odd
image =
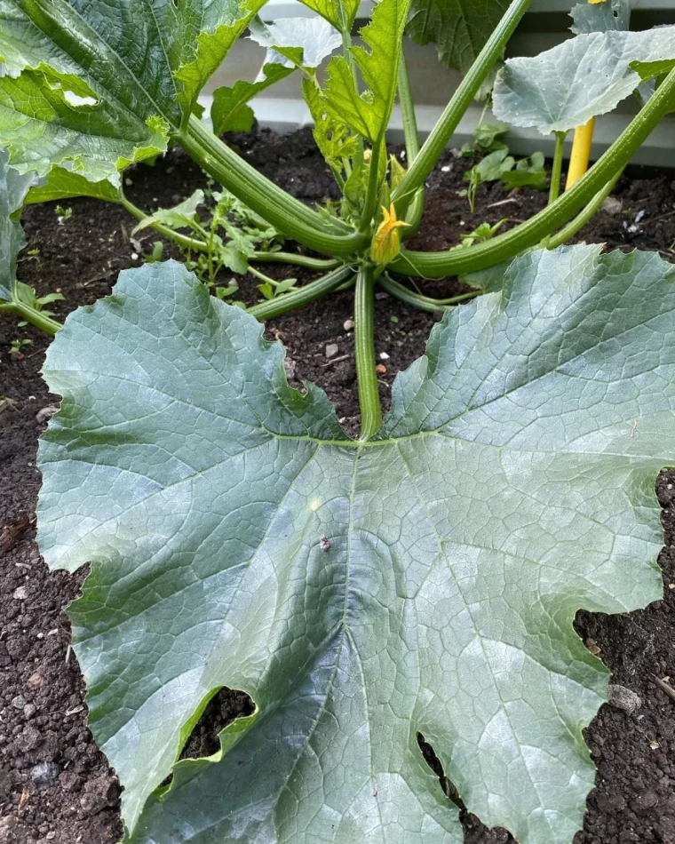
[[(301, 200), (314, 203), (336, 196), (308, 131), (284, 137), (253, 131), (229, 140), (258, 170)], [(399, 148), (393, 152), (401, 155)], [(493, 184), (480, 187), (476, 211), (470, 213), (466, 200), (457, 196), (470, 166), (452, 150), (439, 163), (427, 183), (420, 229), (424, 235), (411, 242), (414, 248), (447, 248), (484, 220), (506, 218), (505, 229), (544, 207), (545, 196), (536, 191), (506, 194)], [(675, 261), (675, 175), (631, 175), (619, 182), (611, 202), (576, 241), (657, 250)], [(178, 149), (154, 167), (137, 167), (126, 182), (131, 200), (147, 210), (178, 203), (206, 185), (203, 173)], [(138, 240), (132, 238), (134, 221), (119, 206), (88, 199), (61, 205), (46, 203), (25, 211), (28, 250), (20, 260), (20, 278), (38, 294), (60, 291), (66, 297), (53, 306), (60, 319), (109, 293), (118, 272), (138, 267), (160, 239), (149, 230)], [(293, 244), (286, 248), (293, 249)], [(170, 256), (180, 257), (166, 244), (164, 257)], [(291, 274), (290, 267), (263, 268), (276, 278)], [(295, 275), (300, 282), (310, 278), (305, 272)], [(223, 274), (218, 281), (229, 280)], [(238, 281), (242, 299), (255, 301), (257, 280), (246, 276)], [(454, 279), (421, 285), (438, 296), (464, 290)], [(286, 346), (291, 382), (299, 386), (307, 379), (322, 386), (353, 433), (359, 411), (347, 322), (352, 318), (352, 294), (335, 294), (270, 322), (267, 335)], [(436, 318), (377, 294), (377, 355), (385, 406), (394, 376), (423, 354)], [(19, 338), (31, 343), (20, 354), (11, 354), (12, 340)], [(48, 338), (30, 326), (18, 327), (11, 318), (0, 322), (0, 844), (115, 844), (122, 832), (120, 786), (86, 726), (83, 678), (70, 648), (65, 613), (86, 572), (50, 574), (35, 543), (37, 438), (58, 403), (40, 377), (47, 344)], [(338, 353), (329, 358), (330, 345), (338, 346)], [(576, 621), (587, 646), (611, 670), (612, 683), (624, 691), (623, 697), (620, 689), (616, 692), (620, 699), (604, 705), (586, 731), (598, 776), (575, 844), (675, 844), (675, 699), (667, 685), (656, 682), (671, 673), (675, 677), (675, 472), (661, 474), (657, 493), (665, 532), (659, 558), (663, 601), (631, 615), (581, 612)], [(213, 752), (218, 730), (249, 712), (245, 695), (221, 690), (186, 753)], [(438, 768), (431, 748), (424, 743), (422, 748)], [(452, 796), (451, 784), (444, 786)], [(487, 830), (466, 812), (463, 822), (471, 844), (512, 840), (503, 830)]]

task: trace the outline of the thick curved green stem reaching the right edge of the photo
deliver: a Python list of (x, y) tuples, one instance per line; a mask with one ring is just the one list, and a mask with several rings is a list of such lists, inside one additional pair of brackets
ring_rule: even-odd
[(582, 179), (570, 187), (552, 205), (544, 208), (526, 223), (497, 235), (487, 243), (479, 243), (464, 250), (444, 252), (402, 251), (391, 268), (401, 275), (422, 278), (441, 278), (460, 275), (509, 260), (521, 251), (536, 246), (545, 235), (563, 226), (584, 205), (592, 201), (608, 180), (630, 161), (631, 156), (647, 140), (664, 115), (675, 107), (675, 69), (666, 76), (647, 105), (615, 140)]

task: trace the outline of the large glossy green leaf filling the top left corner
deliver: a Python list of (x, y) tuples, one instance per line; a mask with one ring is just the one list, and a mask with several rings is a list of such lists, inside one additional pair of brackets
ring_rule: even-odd
[[(167, 145), (264, 0), (0, 0), (0, 143), (89, 179)], [(20, 74), (19, 76), (16, 76)]]

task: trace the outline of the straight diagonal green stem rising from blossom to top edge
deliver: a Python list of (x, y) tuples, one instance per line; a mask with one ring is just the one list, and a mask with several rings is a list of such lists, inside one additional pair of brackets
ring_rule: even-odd
[(459, 121), (471, 106), (480, 85), (485, 82), (496, 60), (502, 55), (509, 38), (531, 3), (532, 0), (514, 0), (489, 37), (488, 43), (480, 51), (479, 57), (473, 62), (472, 68), (462, 80), (452, 100), (449, 101), (441, 119), (433, 127), (419, 155), (410, 165), (399, 187), (393, 192), (392, 198), (396, 203), (399, 216), (407, 210), (417, 188), (424, 185), (425, 179), (433, 170), (445, 147), (448, 146), (449, 139), (457, 129)]

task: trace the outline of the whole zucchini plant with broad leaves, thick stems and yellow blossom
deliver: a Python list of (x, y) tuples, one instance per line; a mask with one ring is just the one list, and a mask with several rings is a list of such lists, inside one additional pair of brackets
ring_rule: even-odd
[[(484, 823), (528, 844), (569, 842), (594, 776), (582, 731), (608, 682), (573, 630), (576, 610), (661, 595), (654, 486), (675, 447), (675, 268), (561, 244), (675, 110), (675, 29), (608, 31), (614, 15), (584, 8), (568, 44), (507, 62), (496, 114), (556, 133), (558, 185), (568, 131), (636, 89), (644, 103), (534, 218), (422, 253), (405, 240), (425, 179), (529, 0), (476, 4), (475, 18), (446, 0), (438, 30), (423, 0), (412, 13), (381, 0), (357, 47), (355, 0), (306, 4), (324, 19), (311, 43), (303, 27), (264, 27), (260, 0), (0, 0), (0, 307), (58, 330), (44, 377), (63, 402), (40, 444), (38, 539), (52, 568), (91, 563), (69, 613), (91, 729), (123, 784), (124, 840), (459, 842), (459, 809), (421, 734)], [(409, 18), (466, 71), (421, 146), (401, 54)], [(245, 124), (251, 88), (297, 71), (338, 205), (299, 203), (201, 120), (197, 95), (247, 27), (271, 51), (264, 78), (221, 92), (214, 124)], [(314, 64), (338, 43), (321, 83)], [(577, 86), (580, 67), (601, 84)], [(406, 171), (385, 153), (397, 97)], [(31, 314), (16, 277), (23, 198), (96, 195), (133, 213), (120, 172), (174, 141), (324, 256), (245, 259), (326, 275), (247, 313), (158, 262), (123, 272), (62, 329)], [(481, 286), (453, 307), (396, 274)], [(290, 388), (260, 324), (345, 285), (358, 440), (322, 390)], [(376, 285), (447, 311), (384, 421)], [(224, 686), (248, 692), (254, 713), (209, 758), (179, 760)]]

